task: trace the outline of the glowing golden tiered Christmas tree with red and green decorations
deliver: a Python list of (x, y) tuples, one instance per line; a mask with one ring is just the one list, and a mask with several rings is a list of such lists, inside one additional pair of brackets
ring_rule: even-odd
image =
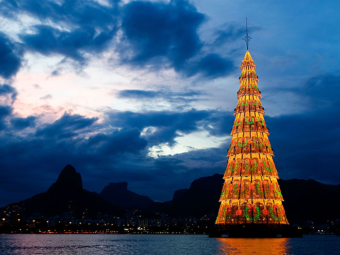
[(263, 118), (256, 66), (248, 50), (240, 68), (241, 85), (216, 224), (223, 224), (226, 229), (246, 224), (253, 229), (260, 225), (262, 229), (264, 226), (279, 229), (288, 221)]

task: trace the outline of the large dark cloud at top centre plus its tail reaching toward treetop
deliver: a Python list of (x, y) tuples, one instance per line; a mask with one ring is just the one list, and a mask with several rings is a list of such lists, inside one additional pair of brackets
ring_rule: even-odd
[(153, 68), (170, 66), (185, 76), (216, 78), (228, 74), (233, 67), (230, 60), (202, 51), (197, 29), (204, 19), (185, 0), (126, 4), (121, 27), (129, 46), (120, 48), (123, 63)]

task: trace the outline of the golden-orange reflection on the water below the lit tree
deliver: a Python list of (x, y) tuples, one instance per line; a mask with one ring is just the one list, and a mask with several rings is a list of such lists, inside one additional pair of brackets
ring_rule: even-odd
[(221, 255), (287, 255), (289, 238), (218, 238)]

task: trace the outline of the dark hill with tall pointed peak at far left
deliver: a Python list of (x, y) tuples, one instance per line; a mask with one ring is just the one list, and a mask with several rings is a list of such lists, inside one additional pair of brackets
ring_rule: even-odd
[(122, 208), (83, 189), (80, 173), (77, 173), (71, 165), (67, 165), (61, 171), (57, 181), (46, 192), (4, 206), (1, 211), (25, 214), (26, 217), (34, 213), (44, 216), (61, 216), (64, 212), (73, 211), (80, 218), (85, 209), (89, 217), (94, 217), (96, 212), (110, 215), (124, 213)]

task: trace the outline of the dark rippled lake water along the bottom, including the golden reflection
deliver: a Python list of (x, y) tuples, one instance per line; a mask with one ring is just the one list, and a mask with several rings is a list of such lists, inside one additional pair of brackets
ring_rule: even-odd
[(340, 255), (340, 237), (0, 235), (0, 255)]

